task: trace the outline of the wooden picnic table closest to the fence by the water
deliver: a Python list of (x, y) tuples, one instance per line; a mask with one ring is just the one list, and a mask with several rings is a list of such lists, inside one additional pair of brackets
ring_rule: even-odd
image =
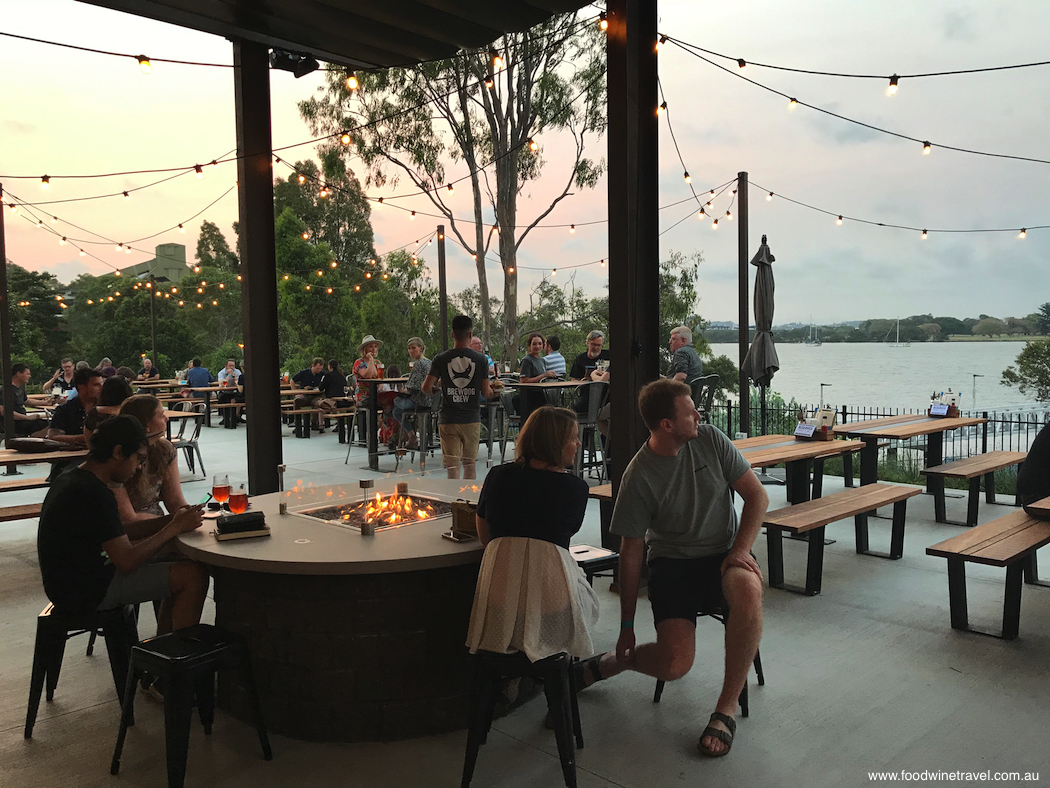
[[(986, 418), (962, 418), (927, 416), (924, 413), (912, 413), (905, 416), (885, 416), (865, 421), (850, 421), (838, 424), (832, 429), (836, 435), (860, 438), (864, 448), (860, 451), (860, 483), (874, 484), (878, 481), (879, 472), (879, 440), (906, 440), (920, 435), (926, 435), (926, 468), (940, 465), (944, 461), (944, 433), (958, 430), (961, 427), (976, 427), (983, 424)], [(944, 490), (944, 479), (930, 477), (926, 480), (926, 490), (934, 493), (940, 488)]]

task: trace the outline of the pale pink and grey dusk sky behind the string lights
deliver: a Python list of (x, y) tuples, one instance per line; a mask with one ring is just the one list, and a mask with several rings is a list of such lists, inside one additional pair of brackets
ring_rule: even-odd
[[(708, 49), (798, 68), (830, 71), (917, 74), (1009, 65), (1047, 59), (1050, 3), (831, 0), (741, 0), (696, 3), (665, 0), (662, 33)], [(0, 32), (98, 49), (229, 64), (230, 43), (215, 36), (105, 11), (72, 0), (0, 0)], [(726, 61), (717, 61), (724, 63)], [(697, 60), (675, 46), (659, 55), (660, 79), (681, 153), (698, 192), (749, 172), (752, 187), (751, 253), (764, 233), (777, 262), (775, 322), (834, 323), (932, 312), (959, 317), (987, 313), (1023, 316), (1050, 300), (1050, 165), (992, 159), (939, 149), (953, 145), (1050, 160), (1050, 66), (990, 74), (902, 79), (886, 96), (884, 80), (846, 80), (775, 71), (750, 66), (747, 77), (789, 96), (933, 143), (895, 139), (819, 115), (788, 102)], [(296, 80), (271, 74), (275, 148), (310, 139), (296, 104), (321, 84), (315, 72)], [(161, 243), (183, 243), (192, 257), (203, 220), (217, 224), (233, 242), (235, 191), (204, 209), (229, 189), (234, 163), (206, 168), (153, 188), (120, 194), (165, 175), (121, 175), (102, 180), (62, 180), (59, 175), (185, 167), (207, 163), (235, 147), (233, 77), (229, 68), (154, 63), (144, 76), (132, 60), (81, 53), (14, 39), (0, 39), (0, 183), (16, 196), (38, 202), (116, 192), (106, 200), (41, 206), (56, 215), (52, 225), (70, 239), (90, 233), (129, 242), (131, 254), (111, 243), (85, 245), (116, 267), (148, 260)], [(528, 185), (519, 216), (542, 211), (564, 182), (567, 140), (541, 138), (548, 161), (544, 179)], [(298, 149), (297, 158), (310, 153)], [(592, 140), (589, 153), (604, 155), (605, 140)], [(291, 157), (289, 157), (291, 158)], [(363, 173), (363, 168), (358, 168)], [(278, 166), (277, 174), (287, 175)], [(449, 179), (465, 174), (450, 165)], [(42, 191), (40, 175), (52, 175)], [(13, 175), (34, 175), (13, 180)], [(522, 306), (549, 272), (564, 284), (569, 266), (606, 257), (605, 181), (596, 189), (563, 201), (544, 224), (581, 225), (536, 229), (521, 248)], [(402, 187), (408, 191), (408, 187)], [(896, 230), (824, 215), (765, 193), (808, 203), (873, 222), (917, 228), (1009, 228), (990, 234)], [(396, 198), (396, 191), (370, 190)], [(660, 205), (690, 196), (668, 134), (660, 126)], [(467, 189), (452, 199), (466, 216)], [(425, 198), (401, 203), (433, 211)], [(715, 204), (721, 213), (729, 194)], [(734, 212), (736, 206), (733, 206)], [(380, 208), (372, 223), (380, 253), (428, 234), (428, 223), (408, 222), (406, 213)], [(680, 220), (680, 224), (672, 227)], [(5, 211), (7, 257), (21, 266), (52, 272), (63, 282), (79, 273), (111, 270), (76, 249), (59, 246), (55, 235)], [(169, 230), (185, 223), (187, 232)], [(77, 227), (74, 227), (76, 225)], [(82, 228), (82, 229), (78, 229)], [(735, 222), (696, 219), (696, 205), (684, 203), (660, 212), (663, 257), (671, 251), (704, 256), (697, 311), (713, 320), (731, 320), (736, 311), (737, 231)], [(89, 231), (89, 232), (87, 232)], [(160, 233), (160, 234), (155, 234)], [(147, 237), (152, 236), (154, 237)], [(98, 240), (98, 239), (96, 239)], [(436, 270), (436, 256), (427, 262)], [(474, 262), (449, 249), (449, 289), (477, 283)], [(542, 270), (526, 270), (534, 267)], [(604, 292), (607, 269), (576, 269), (575, 283), (591, 295)], [(502, 292), (502, 274), (489, 263), (489, 286)]]

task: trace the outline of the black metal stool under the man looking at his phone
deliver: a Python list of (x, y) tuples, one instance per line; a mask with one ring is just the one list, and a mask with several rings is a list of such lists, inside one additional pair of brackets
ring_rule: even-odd
[[(55, 700), (55, 688), (62, 670), (65, 642), (78, 635), (102, 630), (109, 655), (109, 668), (117, 686), (117, 697), (124, 701), (125, 683), (131, 646), (139, 642), (135, 607), (125, 605), (111, 610), (85, 614), (62, 614), (55, 605), (47, 605), (37, 617), (37, 641), (33, 650), (33, 673), (29, 679), (29, 706), (25, 712), (25, 738), (33, 738), (33, 727), (40, 709), (40, 696), (47, 686), (47, 702)], [(88, 652), (90, 655), (90, 651)], [(133, 724), (133, 718), (128, 718)]]

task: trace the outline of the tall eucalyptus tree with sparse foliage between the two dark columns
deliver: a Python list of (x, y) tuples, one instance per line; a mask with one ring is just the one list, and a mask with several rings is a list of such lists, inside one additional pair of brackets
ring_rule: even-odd
[[(486, 343), (491, 308), (485, 264), (496, 246), (504, 276), (504, 356), (518, 334), (522, 242), (573, 188), (593, 187), (605, 168), (604, 161), (585, 155), (587, 143), (606, 127), (604, 35), (576, 14), (560, 15), (505, 35), (491, 48), (412, 68), (358, 72), (355, 90), (341, 71), (330, 69), (318, 96), (299, 104), (313, 133), (330, 136), (327, 150), (361, 158), (366, 185), (396, 185), (405, 178), (429, 199), (476, 261)], [(559, 163), (553, 196), (521, 220), (518, 198), (547, 165), (544, 132), (567, 134), (571, 152)], [(456, 184), (469, 187), (468, 217), (453, 207)]]

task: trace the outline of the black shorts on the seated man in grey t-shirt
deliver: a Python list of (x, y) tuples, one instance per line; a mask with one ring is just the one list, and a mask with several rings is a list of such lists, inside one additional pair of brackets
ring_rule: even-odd
[(649, 602), (653, 623), (686, 619), (700, 611), (724, 610), (721, 565), (729, 552), (704, 558), (654, 558), (649, 562)]

